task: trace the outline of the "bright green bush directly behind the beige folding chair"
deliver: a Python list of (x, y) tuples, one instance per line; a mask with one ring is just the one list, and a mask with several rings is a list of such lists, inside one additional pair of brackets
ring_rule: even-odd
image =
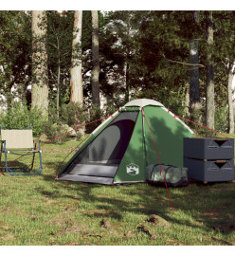
[(30, 128), (33, 136), (39, 137), (43, 133), (45, 118), (37, 109), (28, 109), (26, 103), (13, 102), (6, 112), (0, 114), (1, 126), (5, 128)]

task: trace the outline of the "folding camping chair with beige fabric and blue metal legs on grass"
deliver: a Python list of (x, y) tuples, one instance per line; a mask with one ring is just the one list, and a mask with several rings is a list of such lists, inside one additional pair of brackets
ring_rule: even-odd
[[(43, 171), (42, 156), (40, 149), (40, 141), (38, 142), (38, 149), (36, 143), (33, 147), (32, 128), (30, 129), (4, 129), (1, 127), (1, 152), (0, 161), (2, 160), (2, 153), (5, 155), (5, 168), (9, 175), (30, 175), (41, 174)], [(29, 150), (30, 149), (30, 150)], [(26, 168), (11, 167), (13, 161), (8, 162), (8, 154), (20, 155), (15, 160), (25, 156), (32, 155), (32, 161)], [(40, 167), (34, 172), (30, 173), (33, 169), (35, 155), (39, 154)], [(20, 172), (20, 173), (19, 173)]]

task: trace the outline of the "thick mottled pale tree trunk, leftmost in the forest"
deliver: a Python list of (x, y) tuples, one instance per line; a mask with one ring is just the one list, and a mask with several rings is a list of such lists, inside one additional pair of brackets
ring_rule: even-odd
[(32, 10), (32, 108), (48, 116), (46, 11)]

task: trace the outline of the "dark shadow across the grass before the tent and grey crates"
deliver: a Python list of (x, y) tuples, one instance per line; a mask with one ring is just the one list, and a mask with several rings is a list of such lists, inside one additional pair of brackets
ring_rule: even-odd
[[(112, 186), (73, 181), (55, 181), (55, 175), (53, 174), (43, 174), (43, 178), (45, 181), (51, 182), (52, 189), (53, 187), (58, 188), (59, 182), (60, 188), (69, 190), (69, 194), (61, 195), (45, 189), (39, 189), (38, 192), (49, 198), (63, 197), (85, 201), (87, 204), (94, 206), (94, 210), (87, 210), (83, 213), (91, 218), (111, 218), (123, 221), (123, 217), (128, 212), (148, 216), (156, 214), (172, 224), (204, 229), (207, 232), (214, 230), (228, 234), (235, 230), (234, 184), (202, 185), (200, 182), (196, 182), (185, 188), (170, 188), (175, 216), (171, 212), (168, 195), (163, 187), (148, 184), (118, 186), (118, 192), (122, 196), (123, 194), (128, 195), (128, 198), (130, 198), (128, 200), (117, 198), (117, 196), (114, 198), (114, 194), (103, 194), (103, 192), (102, 194), (94, 194), (93, 192), (94, 189), (102, 189), (104, 187), (112, 190)], [(138, 193), (138, 198), (132, 200), (132, 197), (136, 197), (136, 193)], [(181, 218), (177, 213), (178, 210), (182, 212), (182, 215), (190, 216), (193, 221), (187, 220), (188, 217)]]

